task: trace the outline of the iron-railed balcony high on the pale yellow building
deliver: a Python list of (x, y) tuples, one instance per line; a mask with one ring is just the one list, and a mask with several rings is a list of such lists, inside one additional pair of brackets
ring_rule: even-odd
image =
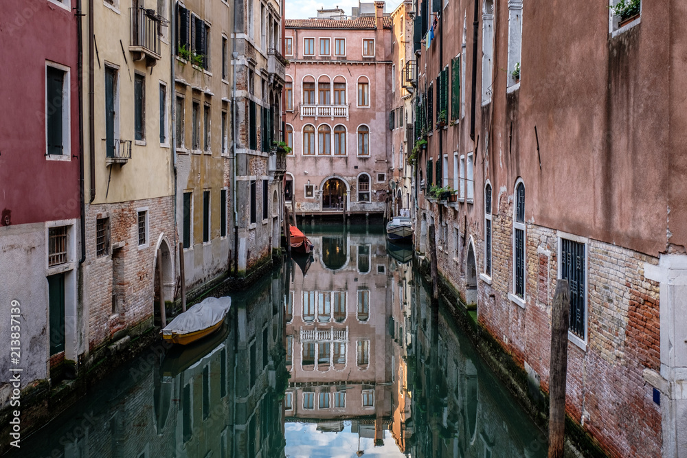
[(166, 27), (168, 21), (153, 9), (129, 8), (129, 11), (131, 12), (129, 51), (133, 52), (134, 60), (146, 59), (146, 67), (154, 67), (162, 58), (160, 36), (162, 27)]

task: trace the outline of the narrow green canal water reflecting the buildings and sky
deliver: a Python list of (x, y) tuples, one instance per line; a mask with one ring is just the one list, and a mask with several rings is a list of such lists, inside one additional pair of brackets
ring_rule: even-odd
[(364, 227), (304, 229), (313, 256), (232, 294), (218, 334), (153, 345), (10, 456), (545, 456), (541, 431), (431, 310), (409, 247)]

